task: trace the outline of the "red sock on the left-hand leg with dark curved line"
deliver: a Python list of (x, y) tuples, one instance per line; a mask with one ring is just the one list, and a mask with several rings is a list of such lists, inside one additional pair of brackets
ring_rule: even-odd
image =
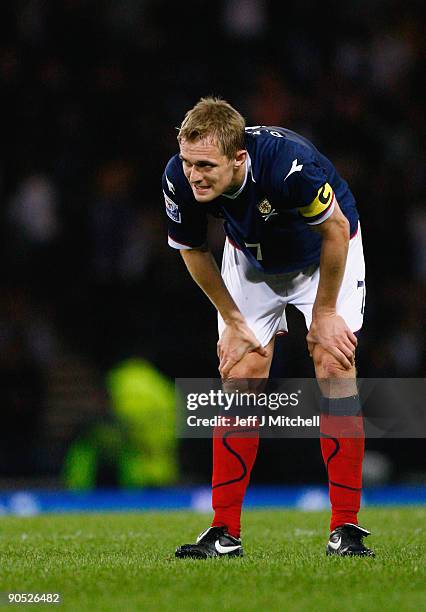
[(213, 527), (241, 532), (241, 508), (259, 446), (257, 428), (216, 427), (213, 432)]

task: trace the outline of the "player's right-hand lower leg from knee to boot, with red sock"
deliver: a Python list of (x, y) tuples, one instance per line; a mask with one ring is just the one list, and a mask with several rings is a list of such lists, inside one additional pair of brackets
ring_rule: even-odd
[(343, 368), (318, 344), (312, 357), (323, 395), (321, 451), (327, 469), (332, 512), (327, 554), (373, 556), (362, 542), (369, 532), (358, 526), (364, 429), (356, 368), (355, 365)]

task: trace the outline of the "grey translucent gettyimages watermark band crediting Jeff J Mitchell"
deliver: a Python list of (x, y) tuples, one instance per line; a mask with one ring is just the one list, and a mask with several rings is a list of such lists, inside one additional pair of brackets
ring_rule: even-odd
[[(366, 438), (426, 438), (426, 379), (364, 378), (356, 385), (345, 379), (249, 379), (225, 386), (220, 379), (176, 379), (177, 435), (208, 438), (216, 427), (231, 427), (270, 438), (318, 438), (324, 397), (356, 394)], [(353, 419), (336, 418), (339, 435), (360, 435)]]

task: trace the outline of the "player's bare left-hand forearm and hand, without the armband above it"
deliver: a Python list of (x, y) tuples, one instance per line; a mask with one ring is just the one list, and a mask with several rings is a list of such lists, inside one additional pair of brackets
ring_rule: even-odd
[(181, 250), (185, 265), (225, 322), (217, 345), (219, 371), (227, 378), (230, 371), (247, 353), (257, 352), (266, 357), (261, 346), (226, 288), (213, 255), (206, 247)]

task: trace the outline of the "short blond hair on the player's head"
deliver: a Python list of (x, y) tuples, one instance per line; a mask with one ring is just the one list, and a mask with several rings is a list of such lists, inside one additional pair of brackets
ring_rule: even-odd
[(183, 140), (194, 142), (200, 138), (212, 138), (222, 153), (232, 159), (240, 149), (245, 149), (244, 117), (228, 102), (221, 98), (201, 98), (189, 110), (177, 136), (179, 144)]

